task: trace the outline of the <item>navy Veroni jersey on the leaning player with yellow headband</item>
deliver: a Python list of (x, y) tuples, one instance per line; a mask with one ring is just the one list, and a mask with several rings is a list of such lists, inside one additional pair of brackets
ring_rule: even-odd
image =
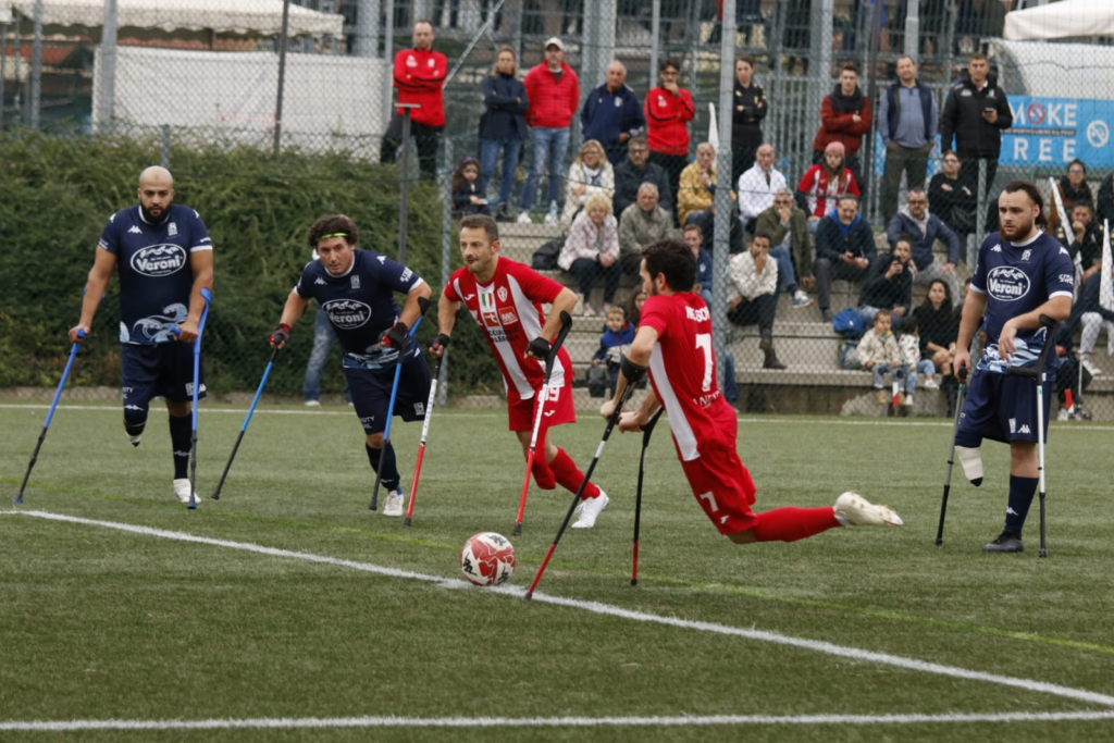
[[(421, 276), (401, 263), (356, 250), (352, 267), (341, 276), (329, 273), (321, 261), (306, 263), (294, 291), (303, 300), (317, 301), (346, 356), (375, 368), (398, 358), (398, 351), (379, 344), (380, 334), (398, 322), (394, 292), (409, 294), (421, 283)], [(413, 343), (410, 339), (408, 348)]]

